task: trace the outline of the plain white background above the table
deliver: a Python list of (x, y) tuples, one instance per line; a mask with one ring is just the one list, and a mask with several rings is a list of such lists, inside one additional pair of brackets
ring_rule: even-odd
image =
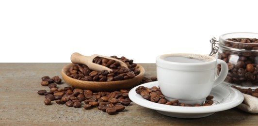
[(0, 0), (0, 62), (116, 55), (155, 63), (210, 53), (212, 37), (258, 32), (257, 0)]

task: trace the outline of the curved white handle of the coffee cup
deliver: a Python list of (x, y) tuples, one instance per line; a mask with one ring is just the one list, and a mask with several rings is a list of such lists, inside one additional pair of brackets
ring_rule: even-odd
[(220, 71), (218, 78), (215, 79), (212, 88), (215, 88), (218, 85), (220, 85), (224, 81), (224, 79), (226, 79), (226, 76), (227, 76), (228, 66), (227, 66), (226, 62), (223, 60), (217, 59), (216, 65), (218, 65), (218, 64), (221, 64), (221, 71)]

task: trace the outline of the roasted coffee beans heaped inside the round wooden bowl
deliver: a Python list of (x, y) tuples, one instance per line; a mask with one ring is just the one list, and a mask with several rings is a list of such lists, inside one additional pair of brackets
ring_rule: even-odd
[(121, 58), (112, 56), (112, 58), (116, 58), (126, 63), (128, 69), (126, 67), (120, 66), (117, 61), (103, 57), (96, 57), (93, 59), (93, 63), (109, 67), (112, 69), (112, 71), (108, 72), (107, 70), (102, 70), (98, 72), (95, 70), (90, 70), (89, 67), (84, 64), (73, 64), (66, 75), (73, 79), (80, 79), (85, 81), (115, 81), (132, 79), (140, 73), (137, 64), (133, 63), (133, 60), (129, 60), (124, 56)]

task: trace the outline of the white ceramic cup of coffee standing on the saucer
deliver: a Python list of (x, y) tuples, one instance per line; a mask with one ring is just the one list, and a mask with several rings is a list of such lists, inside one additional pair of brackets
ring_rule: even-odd
[[(215, 69), (221, 72), (215, 79)], [(162, 94), (168, 100), (185, 104), (203, 104), (211, 89), (227, 76), (226, 62), (208, 55), (175, 53), (156, 58), (157, 78)]]

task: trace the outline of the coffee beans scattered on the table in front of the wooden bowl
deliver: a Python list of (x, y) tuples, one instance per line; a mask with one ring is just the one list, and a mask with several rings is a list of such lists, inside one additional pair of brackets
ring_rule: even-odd
[(82, 90), (72, 86), (58, 88), (56, 82), (57, 84), (62, 82), (58, 76), (54, 76), (52, 79), (44, 76), (41, 79), (41, 85), (48, 86), (50, 89), (50, 91), (39, 90), (37, 92), (39, 95), (45, 95), (45, 105), (51, 105), (51, 101), (55, 101), (56, 104), (65, 104), (68, 107), (81, 108), (82, 106), (86, 110), (97, 107), (97, 109), (108, 114), (114, 114), (123, 111), (125, 106), (129, 106), (131, 103), (128, 90), (92, 92), (91, 90)]

